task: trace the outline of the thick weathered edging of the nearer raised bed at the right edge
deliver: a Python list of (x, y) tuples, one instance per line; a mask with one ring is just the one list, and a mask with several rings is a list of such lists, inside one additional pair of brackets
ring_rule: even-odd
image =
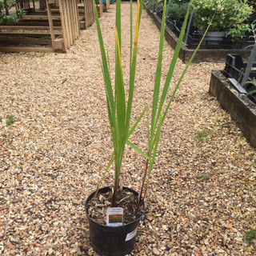
[(212, 70), (209, 93), (217, 98), (247, 138), (256, 148), (256, 104), (240, 94), (224, 76), (223, 70)]

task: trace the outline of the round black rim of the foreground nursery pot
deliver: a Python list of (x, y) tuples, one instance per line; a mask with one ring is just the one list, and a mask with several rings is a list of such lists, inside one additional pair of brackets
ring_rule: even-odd
[[(104, 187), (100, 188), (98, 191), (100, 191), (100, 190), (106, 190), (106, 189), (110, 189), (110, 186), (104, 186)], [(125, 190), (130, 190), (130, 191), (133, 192), (135, 195), (138, 194), (138, 192), (137, 192), (136, 190), (133, 190), (133, 189), (127, 187), (127, 186), (124, 186), (123, 189), (125, 189)], [(93, 218), (90, 217), (90, 215), (87, 213), (87, 210), (86, 210), (86, 205), (88, 204), (88, 202), (90, 202), (90, 199), (93, 197), (93, 195), (95, 194), (95, 192), (96, 192), (96, 190), (95, 190), (94, 192), (92, 192), (92, 193), (86, 198), (86, 202), (85, 202), (85, 211), (86, 211), (86, 217), (87, 217), (88, 219), (90, 219), (90, 221), (96, 223), (96, 224), (99, 225), (99, 226), (107, 227), (107, 228), (110, 228), (110, 229), (113, 229), (113, 230), (114, 230), (114, 229), (116, 230), (116, 229), (118, 229), (118, 228), (119, 228), (119, 229), (120, 229), (120, 228), (124, 228), (124, 227), (130, 225), (131, 223), (140, 221), (141, 218), (142, 218), (142, 216), (143, 216), (144, 213), (145, 213), (145, 202), (143, 201), (143, 210), (142, 210), (142, 214), (141, 214), (138, 218), (136, 218), (134, 221), (132, 221), (132, 222), (126, 223), (126, 224), (124, 224), (124, 225), (122, 225), (122, 226), (106, 226), (106, 225), (103, 225), (103, 224), (101, 224), (101, 223), (98, 223), (98, 222), (96, 222)]]

